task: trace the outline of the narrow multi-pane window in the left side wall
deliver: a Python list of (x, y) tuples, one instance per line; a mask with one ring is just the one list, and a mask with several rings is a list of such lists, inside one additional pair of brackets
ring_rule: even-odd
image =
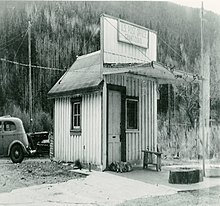
[(72, 102), (71, 116), (71, 130), (79, 131), (81, 129), (81, 101)]

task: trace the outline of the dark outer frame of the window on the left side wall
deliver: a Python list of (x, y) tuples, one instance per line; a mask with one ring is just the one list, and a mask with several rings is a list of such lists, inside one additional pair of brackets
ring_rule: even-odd
[[(79, 105), (79, 110), (75, 114), (75, 106), (74, 105)], [(74, 126), (74, 117), (79, 117), (79, 125)], [(70, 132), (71, 134), (81, 134), (81, 129), (82, 129), (82, 98), (73, 98), (71, 99), (71, 120), (70, 120)]]

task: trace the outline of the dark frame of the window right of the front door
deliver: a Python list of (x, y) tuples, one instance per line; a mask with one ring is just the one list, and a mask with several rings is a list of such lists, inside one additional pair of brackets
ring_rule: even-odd
[[(129, 127), (128, 121), (128, 102), (135, 102), (137, 105), (137, 116), (136, 116), (136, 128)], [(126, 131), (138, 131), (139, 130), (139, 98), (138, 97), (126, 97)]]

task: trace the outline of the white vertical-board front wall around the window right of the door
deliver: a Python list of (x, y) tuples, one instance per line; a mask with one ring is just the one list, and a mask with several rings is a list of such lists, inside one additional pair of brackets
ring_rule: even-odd
[(156, 81), (135, 75), (111, 74), (107, 83), (126, 86), (126, 95), (139, 98), (139, 128), (126, 130), (126, 159), (142, 159), (142, 149), (156, 150), (157, 95)]

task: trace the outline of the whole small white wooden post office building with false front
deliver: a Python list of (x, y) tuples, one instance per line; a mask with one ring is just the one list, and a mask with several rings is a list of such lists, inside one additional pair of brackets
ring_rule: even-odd
[(78, 57), (49, 92), (54, 157), (138, 164), (157, 147), (158, 84), (173, 78), (156, 62), (156, 32), (103, 15), (101, 50)]

